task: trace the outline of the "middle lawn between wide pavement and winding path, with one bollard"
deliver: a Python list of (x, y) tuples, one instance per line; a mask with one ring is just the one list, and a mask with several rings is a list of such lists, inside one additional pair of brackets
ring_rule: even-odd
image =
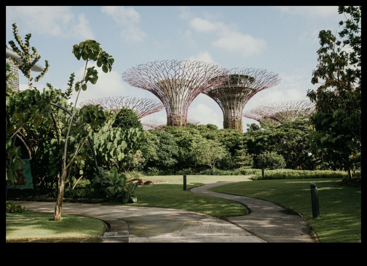
[[(187, 176), (187, 190), (201, 186), (203, 183), (244, 181), (249, 178), (250, 176)], [(143, 177), (143, 179), (148, 179), (148, 177)], [(182, 176), (150, 176), (149, 179), (164, 180), (168, 183), (136, 188), (138, 202), (125, 205), (182, 209), (215, 217), (238, 216), (247, 213), (247, 209), (238, 202), (183, 191)], [(106, 202), (105, 204), (120, 205), (121, 203)]]

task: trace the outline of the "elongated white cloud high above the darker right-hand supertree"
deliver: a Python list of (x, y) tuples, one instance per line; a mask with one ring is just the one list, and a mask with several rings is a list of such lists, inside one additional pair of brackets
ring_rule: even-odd
[(212, 45), (232, 53), (250, 56), (261, 53), (262, 50), (266, 49), (265, 40), (236, 32), (222, 22), (213, 23), (207, 19), (193, 18), (190, 20), (190, 26), (197, 32), (216, 33), (219, 39), (212, 42)]

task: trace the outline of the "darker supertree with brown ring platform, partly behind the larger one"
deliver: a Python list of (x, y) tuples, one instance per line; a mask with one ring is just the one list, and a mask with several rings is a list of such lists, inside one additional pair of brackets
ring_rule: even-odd
[(248, 100), (259, 91), (277, 85), (281, 79), (276, 73), (255, 68), (234, 68), (224, 77), (225, 83), (207, 88), (203, 93), (221, 107), (224, 128), (243, 132), (242, 111)]

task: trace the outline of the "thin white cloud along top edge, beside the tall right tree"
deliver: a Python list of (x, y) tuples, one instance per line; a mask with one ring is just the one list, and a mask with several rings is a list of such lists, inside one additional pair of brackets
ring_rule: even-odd
[(305, 15), (307, 17), (327, 18), (338, 14), (338, 6), (279, 6), (282, 14)]

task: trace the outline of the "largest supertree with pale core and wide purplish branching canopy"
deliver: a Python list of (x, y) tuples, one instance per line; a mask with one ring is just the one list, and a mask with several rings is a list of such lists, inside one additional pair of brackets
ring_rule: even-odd
[(155, 61), (129, 69), (125, 82), (157, 96), (167, 111), (167, 125), (183, 127), (190, 104), (201, 92), (224, 82), (228, 71), (199, 61)]

